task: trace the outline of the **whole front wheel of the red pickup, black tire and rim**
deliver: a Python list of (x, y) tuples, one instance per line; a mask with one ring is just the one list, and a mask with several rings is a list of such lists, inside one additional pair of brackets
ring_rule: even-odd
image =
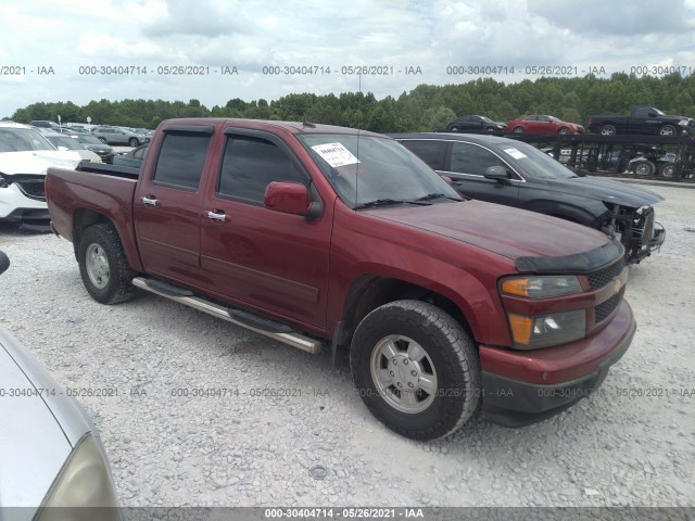
[[(389, 343), (396, 353), (392, 358), (381, 347)], [(425, 356), (414, 354), (410, 358), (415, 351), (407, 348), (419, 348)], [(367, 315), (353, 336), (350, 364), (355, 385), (371, 414), (389, 429), (413, 440), (435, 440), (453, 433), (473, 416), (480, 402), (476, 346), (460, 323), (426, 302), (395, 301)], [(386, 386), (384, 380), (374, 374), (381, 372), (380, 368), (384, 377), (393, 377)], [(428, 380), (432, 393), (422, 389)], [(406, 399), (397, 384), (415, 390), (408, 393), (412, 399)], [(399, 406), (410, 410), (400, 410)]]

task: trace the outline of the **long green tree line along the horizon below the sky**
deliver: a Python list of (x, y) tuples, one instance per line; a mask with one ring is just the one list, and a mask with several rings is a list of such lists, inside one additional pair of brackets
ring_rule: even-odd
[(522, 114), (551, 114), (587, 125), (592, 114), (627, 114), (634, 105), (652, 105), (667, 114), (695, 116), (695, 75), (662, 77), (616, 73), (610, 78), (543, 77), (504, 84), (479, 78), (463, 84), (419, 85), (397, 98), (378, 100), (371, 92), (341, 94), (296, 93), (277, 100), (244, 101), (233, 98), (225, 105), (206, 107), (199, 100), (123, 100), (33, 103), (18, 109), (11, 119), (112, 124), (155, 128), (173, 117), (244, 117), (275, 120), (308, 120), (362, 128), (377, 132), (442, 130), (456, 116), (481, 114), (507, 122)]

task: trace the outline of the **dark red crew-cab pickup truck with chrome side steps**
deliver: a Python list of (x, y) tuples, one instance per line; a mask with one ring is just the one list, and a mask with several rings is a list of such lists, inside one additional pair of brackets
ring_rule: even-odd
[(139, 173), (50, 168), (46, 193), (97, 301), (140, 288), (309, 353), (349, 348), (367, 407), (413, 439), (479, 409), (553, 416), (635, 330), (619, 242), (464, 200), (377, 134), (167, 120)]

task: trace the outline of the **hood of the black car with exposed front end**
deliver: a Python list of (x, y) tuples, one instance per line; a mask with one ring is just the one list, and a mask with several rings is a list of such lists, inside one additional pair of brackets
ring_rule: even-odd
[(586, 196), (608, 203), (621, 204), (633, 208), (649, 206), (664, 198), (652, 190), (646, 190), (627, 182), (601, 179), (597, 177), (572, 177), (569, 179), (548, 179), (548, 188), (565, 193)]

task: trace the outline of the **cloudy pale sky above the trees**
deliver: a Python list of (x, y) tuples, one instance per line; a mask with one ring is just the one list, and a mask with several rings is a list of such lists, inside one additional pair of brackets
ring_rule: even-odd
[[(172, 66), (202, 74), (173, 75)], [(359, 78), (362, 66), (369, 68)], [(534, 79), (544, 71), (533, 66), (570, 77), (602, 67), (605, 76), (650, 67), (692, 74), (695, 0), (4, 0), (0, 8), (0, 117), (40, 101), (194, 98), (211, 107), (232, 98), (338, 94), (361, 82), (380, 99), (419, 84)]]

